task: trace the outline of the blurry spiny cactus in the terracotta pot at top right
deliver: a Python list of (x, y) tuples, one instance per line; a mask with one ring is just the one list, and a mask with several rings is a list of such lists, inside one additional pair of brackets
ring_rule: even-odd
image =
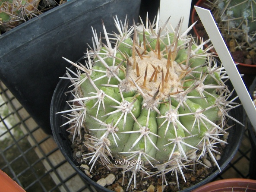
[(231, 52), (242, 48), (255, 50), (255, 0), (215, 0), (210, 6)]

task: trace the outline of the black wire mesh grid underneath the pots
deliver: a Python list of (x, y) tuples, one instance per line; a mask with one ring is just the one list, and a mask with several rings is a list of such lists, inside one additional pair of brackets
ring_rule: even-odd
[[(28, 115), (0, 82), (0, 169), (26, 192), (94, 192), (57, 148), (50, 135)], [(237, 154), (218, 179), (249, 178), (247, 129)]]

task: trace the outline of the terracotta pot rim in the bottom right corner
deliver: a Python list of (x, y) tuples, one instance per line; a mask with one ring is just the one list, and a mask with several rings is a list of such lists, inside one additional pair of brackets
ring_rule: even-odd
[(256, 180), (223, 179), (201, 186), (193, 192), (256, 192)]

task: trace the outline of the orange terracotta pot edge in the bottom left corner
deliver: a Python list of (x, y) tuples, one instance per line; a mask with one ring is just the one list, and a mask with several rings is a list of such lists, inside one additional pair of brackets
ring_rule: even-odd
[(0, 170), (0, 191), (1, 192), (25, 192), (13, 179)]

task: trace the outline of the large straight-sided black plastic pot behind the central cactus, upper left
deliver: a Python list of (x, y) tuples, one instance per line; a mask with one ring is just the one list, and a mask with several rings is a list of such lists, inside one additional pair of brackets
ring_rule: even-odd
[(50, 104), (59, 77), (92, 42), (92, 28), (115, 31), (113, 16), (138, 19), (140, 0), (71, 0), (0, 36), (0, 80), (51, 134)]

